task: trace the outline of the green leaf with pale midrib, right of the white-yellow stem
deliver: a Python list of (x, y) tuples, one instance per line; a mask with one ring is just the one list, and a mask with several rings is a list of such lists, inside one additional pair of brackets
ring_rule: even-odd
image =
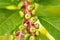
[(58, 17), (39, 17), (42, 25), (56, 39), (60, 40), (60, 18)]

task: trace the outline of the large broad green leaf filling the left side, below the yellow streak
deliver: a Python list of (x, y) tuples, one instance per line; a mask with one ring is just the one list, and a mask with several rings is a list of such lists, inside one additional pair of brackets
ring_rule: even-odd
[(18, 11), (0, 9), (0, 35), (10, 34), (21, 21)]

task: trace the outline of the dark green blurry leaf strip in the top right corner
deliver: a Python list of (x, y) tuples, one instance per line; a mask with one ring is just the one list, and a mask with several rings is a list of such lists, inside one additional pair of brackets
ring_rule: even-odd
[(35, 0), (35, 2), (40, 5), (60, 5), (60, 0)]

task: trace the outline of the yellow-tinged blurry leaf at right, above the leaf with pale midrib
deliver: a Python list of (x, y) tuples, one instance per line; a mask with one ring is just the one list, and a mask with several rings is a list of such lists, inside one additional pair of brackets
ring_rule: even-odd
[(37, 16), (60, 16), (60, 6), (42, 6), (40, 5), (36, 10)]

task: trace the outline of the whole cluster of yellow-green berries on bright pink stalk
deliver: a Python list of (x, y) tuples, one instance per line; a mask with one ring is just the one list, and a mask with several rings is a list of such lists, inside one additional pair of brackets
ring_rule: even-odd
[[(32, 0), (34, 1), (34, 0)], [(40, 34), (39, 24), (34, 24), (37, 21), (37, 16), (35, 15), (35, 3), (30, 0), (24, 0), (19, 3), (21, 7), (19, 14), (23, 18), (23, 22), (19, 25), (19, 29), (14, 31), (14, 36), (25, 38), (25, 40), (35, 40), (35, 37)]]

